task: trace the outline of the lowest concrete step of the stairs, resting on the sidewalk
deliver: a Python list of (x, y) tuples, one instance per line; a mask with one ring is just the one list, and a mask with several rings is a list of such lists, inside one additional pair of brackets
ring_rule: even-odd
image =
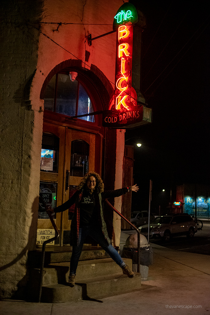
[(76, 280), (75, 287), (51, 284), (42, 287), (41, 302), (65, 303), (78, 300), (97, 300), (141, 289), (141, 274), (128, 278), (122, 273), (93, 279)]

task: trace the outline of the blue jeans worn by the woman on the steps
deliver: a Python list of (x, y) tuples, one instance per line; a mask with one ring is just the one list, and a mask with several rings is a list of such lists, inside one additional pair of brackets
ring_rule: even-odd
[(78, 262), (82, 252), (82, 247), (87, 235), (90, 235), (120, 267), (125, 266), (125, 263), (118, 254), (118, 251), (111, 244), (108, 244), (108, 241), (106, 240), (99, 226), (82, 226), (79, 228), (78, 245), (73, 246), (72, 248), (69, 274), (76, 274)]

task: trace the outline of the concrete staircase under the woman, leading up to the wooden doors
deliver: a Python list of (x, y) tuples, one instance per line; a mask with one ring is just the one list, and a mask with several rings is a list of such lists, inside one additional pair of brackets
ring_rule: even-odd
[[(124, 258), (132, 270), (132, 260)], [(68, 285), (69, 262), (51, 262), (44, 268), (41, 302), (64, 303), (78, 300), (97, 300), (141, 289), (141, 274), (134, 278), (123, 275), (111, 259), (79, 261), (75, 287)], [(36, 299), (39, 288), (39, 268), (30, 270), (30, 297)]]

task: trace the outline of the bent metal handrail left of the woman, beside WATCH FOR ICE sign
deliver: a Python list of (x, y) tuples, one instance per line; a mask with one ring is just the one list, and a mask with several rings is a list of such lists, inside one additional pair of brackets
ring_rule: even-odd
[(60, 234), (58, 232), (58, 228), (52, 218), (51, 215), (51, 211), (48, 210), (47, 204), (44, 202), (43, 198), (39, 197), (39, 199), (41, 200), (41, 202), (44, 204), (45, 210), (49, 216), (49, 219), (52, 223), (52, 226), (55, 230), (55, 236), (53, 238), (48, 239), (47, 241), (44, 241), (44, 243), (42, 244), (42, 250), (41, 250), (41, 267), (40, 267), (40, 284), (39, 284), (39, 297), (38, 297), (38, 302), (40, 303), (41, 301), (41, 289), (42, 289), (42, 282), (43, 282), (43, 270), (44, 270), (44, 259), (45, 259), (45, 247), (47, 243), (50, 243), (54, 240), (56, 240)]

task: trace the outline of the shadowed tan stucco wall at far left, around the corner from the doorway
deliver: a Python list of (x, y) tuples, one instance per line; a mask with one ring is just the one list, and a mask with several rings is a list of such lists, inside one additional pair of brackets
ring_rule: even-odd
[(6, 298), (25, 283), (27, 251), (36, 243), (42, 113), (29, 95), (39, 34), (27, 20), (40, 19), (41, 2), (1, 6), (0, 297)]

